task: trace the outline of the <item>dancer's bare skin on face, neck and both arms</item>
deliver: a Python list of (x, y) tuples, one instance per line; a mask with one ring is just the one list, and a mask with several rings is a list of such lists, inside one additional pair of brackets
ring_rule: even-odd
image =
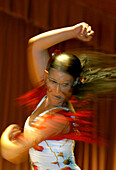
[[(49, 55), (48, 55), (48, 48), (58, 44), (62, 41), (66, 41), (69, 39), (79, 39), (81, 41), (90, 41), (92, 39), (92, 36), (94, 34), (94, 31), (91, 30), (91, 26), (89, 26), (87, 23), (79, 23), (71, 27), (61, 28), (61, 29), (55, 29), (52, 31), (48, 31), (46, 33), (39, 34), (29, 40), (29, 46), (28, 46), (28, 66), (29, 66), (29, 73), (31, 82), (34, 86), (40, 82), (44, 77), (44, 70), (46, 69)], [(46, 72), (46, 71), (45, 71)], [(72, 88), (70, 88), (67, 91), (62, 91), (60, 84), (64, 83), (64, 80), (68, 80), (73, 82), (74, 79), (70, 75), (67, 75), (66, 73), (61, 72), (60, 70), (51, 70), (49, 73), (45, 73), (45, 79), (47, 80), (47, 77), (52, 76), (52, 78), (55, 79), (57, 83), (54, 88), (51, 89), (49, 87), (47, 92), (47, 99), (43, 103), (43, 105), (37, 110), (35, 113), (35, 116), (38, 116), (42, 111), (45, 111), (49, 108), (55, 107), (55, 106), (65, 106), (67, 103), (67, 100), (72, 95)], [(47, 82), (46, 82), (47, 83)], [(49, 86), (49, 84), (48, 84)], [(69, 132), (69, 126), (68, 121), (65, 119), (65, 117), (61, 116), (61, 119), (64, 121), (62, 124), (59, 125), (57, 123), (57, 120), (59, 118), (59, 115), (57, 115), (54, 111), (54, 113), (49, 114), (55, 114), (54, 115), (54, 122), (53, 120), (49, 119), (47, 120), (48, 125), (55, 123), (55, 127), (52, 128), (49, 127), (46, 124), (46, 128), (43, 129), (43, 131), (29, 127), (26, 132), (24, 132), (22, 138), (19, 138), (17, 140), (12, 140), (14, 136), (18, 133), (20, 133), (20, 127), (18, 125), (10, 125), (8, 128), (3, 132), (1, 136), (1, 151), (2, 156), (7, 159), (8, 161), (11, 161), (13, 163), (19, 163), (20, 161), (24, 160), (23, 156), (28, 152), (28, 149), (31, 147), (34, 147), (36, 144), (40, 143), (43, 140), (46, 140), (49, 136), (57, 135), (57, 133), (68, 133)], [(45, 116), (49, 116), (45, 115)], [(41, 125), (43, 125), (42, 120), (44, 119), (44, 116), (41, 118)], [(56, 120), (56, 121), (55, 121)], [(32, 120), (33, 121), (33, 120)], [(38, 124), (38, 121), (36, 121)], [(40, 121), (39, 121), (40, 123)], [(67, 128), (65, 128), (67, 125)], [(67, 131), (63, 132), (63, 129), (66, 129)], [(48, 133), (49, 131), (49, 133)], [(30, 138), (31, 136), (31, 138)], [(10, 140), (11, 139), (11, 140)]]

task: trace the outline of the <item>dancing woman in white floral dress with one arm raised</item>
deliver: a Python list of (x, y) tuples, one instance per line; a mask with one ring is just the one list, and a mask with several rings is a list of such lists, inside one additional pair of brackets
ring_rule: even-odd
[[(32, 169), (80, 169), (74, 160), (74, 141), (68, 137), (75, 126), (71, 122), (72, 115), (68, 113), (74, 111), (69, 99), (80, 81), (81, 63), (76, 56), (61, 53), (48, 64), (47, 49), (72, 38), (90, 41), (93, 33), (91, 26), (80, 23), (45, 32), (29, 40), (31, 80), (37, 85), (44, 79), (46, 95), (39, 97), (40, 102), (27, 119), (23, 133), (18, 125), (10, 125), (3, 132), (1, 150), (5, 159), (18, 163), (24, 160), (29, 150)], [(79, 131), (76, 133), (80, 135)], [(17, 134), (20, 135), (15, 137)]]

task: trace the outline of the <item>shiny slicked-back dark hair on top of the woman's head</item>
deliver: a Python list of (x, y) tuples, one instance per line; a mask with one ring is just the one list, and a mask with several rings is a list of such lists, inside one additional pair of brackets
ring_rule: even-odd
[(55, 68), (66, 72), (73, 76), (75, 79), (80, 76), (82, 71), (81, 62), (77, 56), (73, 54), (60, 53), (52, 57), (48, 63), (47, 70)]

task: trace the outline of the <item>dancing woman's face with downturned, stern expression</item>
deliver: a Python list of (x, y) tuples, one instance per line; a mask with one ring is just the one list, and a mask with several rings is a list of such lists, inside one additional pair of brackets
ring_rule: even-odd
[(51, 68), (45, 72), (47, 98), (51, 106), (63, 106), (72, 95), (74, 78), (68, 73)]

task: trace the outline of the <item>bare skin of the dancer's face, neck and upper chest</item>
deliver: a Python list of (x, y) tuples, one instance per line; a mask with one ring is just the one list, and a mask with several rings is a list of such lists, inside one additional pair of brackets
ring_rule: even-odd
[[(53, 69), (51, 68), (48, 72), (47, 70), (44, 70), (45, 73), (45, 82), (48, 87), (47, 90), (47, 98), (46, 100), (41, 104), (41, 106), (30, 116), (29, 124), (33, 122), (33, 120), (39, 116), (40, 113), (44, 112), (45, 110), (49, 110), (54, 107), (58, 106), (64, 106), (68, 107), (67, 101), (72, 96), (73, 88), (70, 87), (68, 89), (62, 89), (60, 87), (61, 84), (73, 84), (74, 78), (65, 72), (62, 72), (61, 70)], [(59, 84), (55, 84), (54, 86), (51, 86), (48, 78), (52, 78), (55, 82), (58, 82)]]

